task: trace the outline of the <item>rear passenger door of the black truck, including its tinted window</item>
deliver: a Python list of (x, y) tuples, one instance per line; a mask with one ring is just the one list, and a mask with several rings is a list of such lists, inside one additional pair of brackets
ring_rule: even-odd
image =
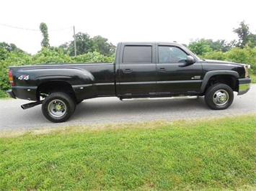
[[(117, 70), (119, 95), (149, 96), (156, 93), (156, 62), (153, 45), (125, 45), (120, 50)], [(118, 90), (118, 88), (117, 88)]]

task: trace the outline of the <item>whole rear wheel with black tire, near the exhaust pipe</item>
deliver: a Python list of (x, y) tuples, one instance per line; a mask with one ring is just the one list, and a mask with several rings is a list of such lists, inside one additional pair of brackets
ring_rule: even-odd
[(42, 104), (45, 118), (54, 123), (68, 120), (76, 109), (74, 98), (67, 93), (56, 92), (48, 95)]

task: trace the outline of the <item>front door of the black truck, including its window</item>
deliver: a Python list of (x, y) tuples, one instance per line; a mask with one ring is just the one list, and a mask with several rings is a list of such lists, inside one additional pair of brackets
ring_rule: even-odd
[(200, 62), (187, 65), (187, 53), (175, 45), (159, 45), (156, 58), (156, 93), (193, 94), (200, 91), (202, 66)]

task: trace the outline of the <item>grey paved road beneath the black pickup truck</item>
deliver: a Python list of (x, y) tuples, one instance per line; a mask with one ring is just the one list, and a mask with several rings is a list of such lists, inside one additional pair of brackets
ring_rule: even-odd
[(256, 113), (256, 85), (252, 85), (247, 94), (234, 94), (234, 102), (223, 111), (211, 110), (206, 106), (203, 98), (164, 101), (119, 101), (118, 98), (94, 98), (80, 103), (69, 121), (62, 124), (53, 124), (48, 121), (43, 116), (40, 106), (22, 110), (20, 105), (28, 101), (1, 100), (0, 131)]

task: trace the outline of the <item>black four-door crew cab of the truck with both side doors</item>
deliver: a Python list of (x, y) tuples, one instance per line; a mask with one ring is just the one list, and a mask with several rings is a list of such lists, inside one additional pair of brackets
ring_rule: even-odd
[(198, 57), (177, 43), (119, 43), (115, 58), (118, 95), (154, 97), (200, 92)]

